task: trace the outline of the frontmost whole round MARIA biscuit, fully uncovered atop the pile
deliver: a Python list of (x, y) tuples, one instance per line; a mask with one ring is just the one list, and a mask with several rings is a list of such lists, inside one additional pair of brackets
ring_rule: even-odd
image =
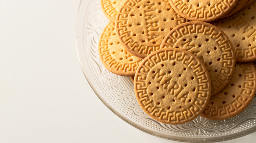
[(157, 50), (140, 63), (134, 90), (141, 108), (166, 124), (183, 124), (199, 116), (211, 95), (203, 63), (179, 48)]

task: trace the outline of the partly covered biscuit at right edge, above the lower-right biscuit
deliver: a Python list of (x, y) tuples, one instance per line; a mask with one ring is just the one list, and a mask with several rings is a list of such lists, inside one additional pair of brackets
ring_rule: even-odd
[(212, 24), (219, 27), (230, 39), (236, 62), (256, 60), (256, 1), (245, 9)]

